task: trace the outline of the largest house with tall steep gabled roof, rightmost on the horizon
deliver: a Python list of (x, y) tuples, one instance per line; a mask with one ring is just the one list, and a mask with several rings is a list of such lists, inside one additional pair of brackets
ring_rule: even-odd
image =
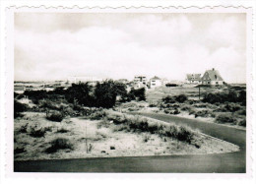
[(207, 70), (205, 72), (204, 76), (202, 77), (202, 84), (213, 86), (224, 85), (224, 79), (219, 71), (213, 68), (212, 70)]

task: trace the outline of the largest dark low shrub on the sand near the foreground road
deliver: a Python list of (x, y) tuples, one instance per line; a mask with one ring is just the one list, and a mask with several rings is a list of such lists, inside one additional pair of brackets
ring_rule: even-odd
[(74, 146), (66, 138), (57, 138), (50, 142), (50, 147), (45, 150), (46, 153), (56, 153), (59, 150), (73, 150)]

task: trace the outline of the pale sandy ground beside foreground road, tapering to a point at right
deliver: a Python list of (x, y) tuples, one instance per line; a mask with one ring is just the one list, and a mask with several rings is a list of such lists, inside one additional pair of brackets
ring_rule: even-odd
[[(24, 148), (24, 152), (15, 153), (15, 160), (27, 159), (58, 159), (82, 157), (111, 157), (139, 155), (170, 155), (170, 154), (201, 154), (230, 153), (239, 148), (235, 145), (211, 139), (198, 138), (200, 149), (187, 143), (160, 138), (148, 133), (131, 133), (114, 131), (116, 125), (98, 127), (99, 120), (91, 121), (83, 118), (64, 119), (62, 122), (52, 122), (45, 119), (44, 113), (26, 112), (23, 118), (15, 119), (16, 148)], [(21, 133), (22, 126), (28, 124), (28, 132)], [(30, 136), (30, 127), (50, 127), (44, 137)], [(60, 129), (67, 130), (59, 133)], [(145, 141), (145, 138), (148, 141)], [(59, 150), (56, 153), (45, 153), (50, 142), (56, 138), (66, 138), (74, 145), (74, 150)], [(92, 149), (89, 149), (89, 148)], [(87, 150), (90, 150), (87, 152)]]

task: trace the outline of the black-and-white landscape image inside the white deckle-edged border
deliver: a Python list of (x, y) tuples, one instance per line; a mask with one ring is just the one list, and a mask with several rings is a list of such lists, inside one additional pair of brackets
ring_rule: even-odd
[(16, 12), (14, 172), (246, 173), (246, 24)]

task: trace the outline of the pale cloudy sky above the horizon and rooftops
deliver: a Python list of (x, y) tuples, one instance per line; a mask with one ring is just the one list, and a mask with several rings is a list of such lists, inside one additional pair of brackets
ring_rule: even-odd
[(184, 81), (219, 70), (246, 81), (246, 15), (193, 13), (16, 13), (15, 80), (71, 76)]

